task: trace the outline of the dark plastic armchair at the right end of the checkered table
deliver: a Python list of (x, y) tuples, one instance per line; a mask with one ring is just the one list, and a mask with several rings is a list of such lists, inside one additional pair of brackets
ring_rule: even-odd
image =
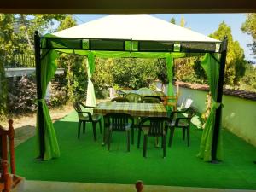
[[(186, 113), (187, 116), (185, 117), (183, 113)], [(183, 130), (183, 141), (185, 140), (185, 135), (187, 132), (187, 142), (188, 147), (190, 145), (190, 122), (192, 117), (195, 115), (195, 108), (189, 107), (181, 111), (173, 111), (171, 113), (170, 119), (172, 122), (168, 124), (170, 129), (170, 137), (169, 137), (169, 144), (168, 146), (171, 147), (172, 145), (172, 138), (174, 136), (175, 128), (181, 128)]]

